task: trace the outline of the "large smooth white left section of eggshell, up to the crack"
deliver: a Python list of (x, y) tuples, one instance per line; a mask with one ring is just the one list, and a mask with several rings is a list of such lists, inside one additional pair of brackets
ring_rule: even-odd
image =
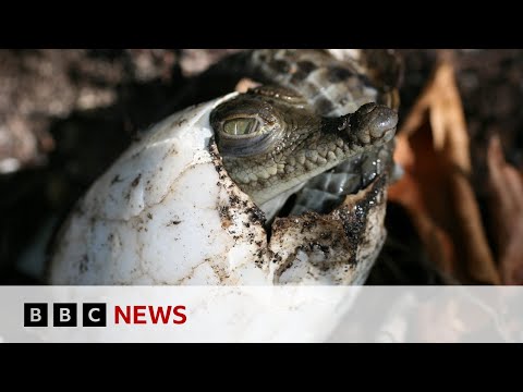
[(266, 284), (259, 210), (226, 175), (209, 113), (155, 125), (96, 181), (53, 246), (51, 284)]

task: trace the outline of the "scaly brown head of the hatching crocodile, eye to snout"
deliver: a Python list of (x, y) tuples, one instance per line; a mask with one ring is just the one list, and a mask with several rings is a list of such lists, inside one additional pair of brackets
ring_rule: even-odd
[[(252, 134), (224, 131), (228, 121), (245, 119), (259, 124)], [(210, 121), (229, 175), (260, 205), (390, 142), (398, 115), (366, 103), (354, 113), (324, 118), (290, 89), (262, 87), (222, 103)]]

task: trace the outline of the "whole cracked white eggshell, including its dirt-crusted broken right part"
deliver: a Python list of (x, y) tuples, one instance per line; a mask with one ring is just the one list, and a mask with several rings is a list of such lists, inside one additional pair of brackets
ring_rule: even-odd
[(209, 114), (235, 94), (150, 128), (61, 226), (51, 284), (360, 284), (385, 240), (385, 177), (330, 215), (264, 215), (228, 176)]

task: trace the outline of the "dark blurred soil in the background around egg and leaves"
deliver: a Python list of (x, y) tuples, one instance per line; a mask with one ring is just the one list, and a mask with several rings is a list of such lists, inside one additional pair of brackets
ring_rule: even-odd
[[(139, 132), (180, 109), (191, 79), (231, 51), (0, 50), (0, 284), (41, 283), (32, 252), (45, 249), (57, 222)], [(400, 52), (401, 121), (438, 51)], [(508, 160), (523, 168), (523, 50), (454, 50), (454, 59), (484, 205), (492, 134), (501, 136)], [(441, 283), (399, 206), (389, 205), (387, 226), (369, 283)]]

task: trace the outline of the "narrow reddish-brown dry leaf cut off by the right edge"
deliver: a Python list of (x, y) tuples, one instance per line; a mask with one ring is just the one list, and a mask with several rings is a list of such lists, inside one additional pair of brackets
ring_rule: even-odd
[(490, 139), (487, 163), (501, 278), (504, 284), (523, 284), (523, 175), (504, 160), (498, 136)]

